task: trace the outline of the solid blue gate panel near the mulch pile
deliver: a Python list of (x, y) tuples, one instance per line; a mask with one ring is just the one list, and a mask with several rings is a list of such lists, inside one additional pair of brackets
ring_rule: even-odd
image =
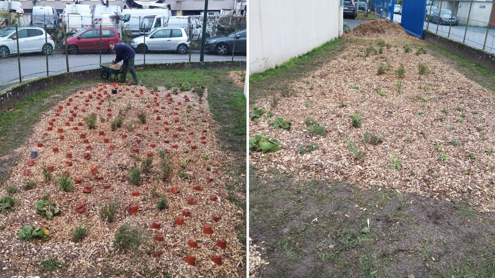
[(423, 39), (423, 25), (426, 15), (426, 0), (408, 0), (402, 5), (400, 26), (416, 37)]

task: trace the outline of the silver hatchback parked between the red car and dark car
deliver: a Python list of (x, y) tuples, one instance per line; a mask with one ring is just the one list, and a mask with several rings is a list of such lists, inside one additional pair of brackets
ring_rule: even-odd
[(131, 42), (131, 47), (138, 53), (145, 53), (148, 50), (174, 50), (186, 54), (190, 45), (186, 30), (173, 27), (156, 28), (148, 35), (137, 37)]

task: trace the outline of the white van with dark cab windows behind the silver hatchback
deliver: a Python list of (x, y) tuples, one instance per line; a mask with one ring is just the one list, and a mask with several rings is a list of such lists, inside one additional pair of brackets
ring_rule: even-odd
[[(147, 28), (148, 26), (150, 26), (150, 28), (165, 26), (166, 22), (168, 21), (168, 18), (171, 15), (172, 12), (168, 8), (122, 10), (122, 16), (123, 16), (122, 20), (124, 21), (124, 29), (131, 30), (133, 35), (139, 35), (140, 26), (142, 25), (145, 26), (145, 24)], [(145, 17), (147, 18), (145, 19)], [(142, 24), (143, 20), (145, 20), (144, 24)]]

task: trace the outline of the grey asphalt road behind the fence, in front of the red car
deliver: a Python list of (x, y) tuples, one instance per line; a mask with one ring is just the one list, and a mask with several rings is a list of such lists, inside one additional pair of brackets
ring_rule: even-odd
[[(101, 54), (101, 63), (111, 62), (115, 54)], [(146, 63), (175, 63), (189, 62), (189, 54), (177, 54), (170, 52), (136, 54), (135, 64), (141, 65)], [(69, 70), (82, 71), (99, 68), (99, 54), (77, 54), (68, 55)], [(205, 54), (204, 61), (231, 61), (232, 55), (220, 56), (215, 54)], [(191, 61), (199, 61), (199, 52), (193, 52)], [(246, 61), (246, 55), (237, 54), (234, 61)], [(47, 60), (42, 54), (25, 54), (20, 56), (21, 78), (27, 80), (35, 77), (47, 76)], [(49, 75), (67, 72), (65, 54), (62, 52), (53, 52), (48, 56)], [(19, 84), (19, 70), (17, 56), (11, 56), (0, 59), (0, 90)], [(138, 74), (139, 77), (139, 74)], [(129, 76), (128, 76), (129, 78)]]

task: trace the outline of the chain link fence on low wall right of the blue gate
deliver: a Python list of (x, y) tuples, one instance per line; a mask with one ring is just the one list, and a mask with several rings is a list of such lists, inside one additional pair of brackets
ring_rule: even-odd
[(425, 30), (495, 53), (495, 0), (432, 0), (427, 4)]

